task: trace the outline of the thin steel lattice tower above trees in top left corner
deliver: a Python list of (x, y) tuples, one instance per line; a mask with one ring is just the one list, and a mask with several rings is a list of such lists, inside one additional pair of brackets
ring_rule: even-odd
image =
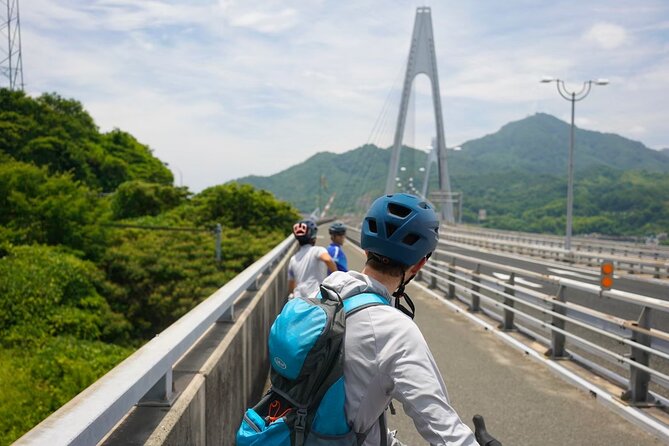
[(7, 79), (0, 86), (23, 90), (19, 0), (0, 0), (0, 39), (0, 76)]

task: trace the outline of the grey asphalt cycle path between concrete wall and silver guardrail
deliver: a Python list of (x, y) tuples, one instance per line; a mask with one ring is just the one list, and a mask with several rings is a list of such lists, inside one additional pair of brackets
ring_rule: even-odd
[[(323, 243), (325, 239), (320, 239)], [(344, 250), (352, 269), (363, 266), (362, 251)], [(659, 439), (599, 404), (496, 336), (454, 312), (420, 285), (409, 287), (416, 322), (439, 364), (451, 403), (471, 427), (484, 415), (505, 445), (660, 445)], [(396, 404), (391, 429), (406, 444), (424, 444), (413, 422)]]

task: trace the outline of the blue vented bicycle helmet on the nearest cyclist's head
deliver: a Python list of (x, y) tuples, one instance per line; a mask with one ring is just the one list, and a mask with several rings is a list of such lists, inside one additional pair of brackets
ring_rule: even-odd
[(362, 222), (360, 246), (404, 266), (411, 266), (437, 247), (439, 218), (432, 206), (409, 194), (377, 198)]

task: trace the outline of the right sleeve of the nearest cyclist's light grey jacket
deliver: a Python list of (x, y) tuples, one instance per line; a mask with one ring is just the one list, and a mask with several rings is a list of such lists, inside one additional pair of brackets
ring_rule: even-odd
[[(391, 382), (391, 396), (404, 406), (421, 436), (431, 445), (478, 445), (471, 429), (451, 407), (441, 373), (413, 321), (404, 316), (385, 335), (380, 372)], [(400, 433), (401, 436), (401, 433)]]

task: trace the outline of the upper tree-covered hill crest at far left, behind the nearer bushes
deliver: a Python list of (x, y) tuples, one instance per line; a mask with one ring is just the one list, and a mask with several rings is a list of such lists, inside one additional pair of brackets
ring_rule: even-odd
[(0, 89), (0, 156), (70, 173), (105, 192), (142, 180), (172, 184), (172, 173), (146, 145), (119, 129), (100, 133), (82, 105), (55, 93), (33, 99)]

